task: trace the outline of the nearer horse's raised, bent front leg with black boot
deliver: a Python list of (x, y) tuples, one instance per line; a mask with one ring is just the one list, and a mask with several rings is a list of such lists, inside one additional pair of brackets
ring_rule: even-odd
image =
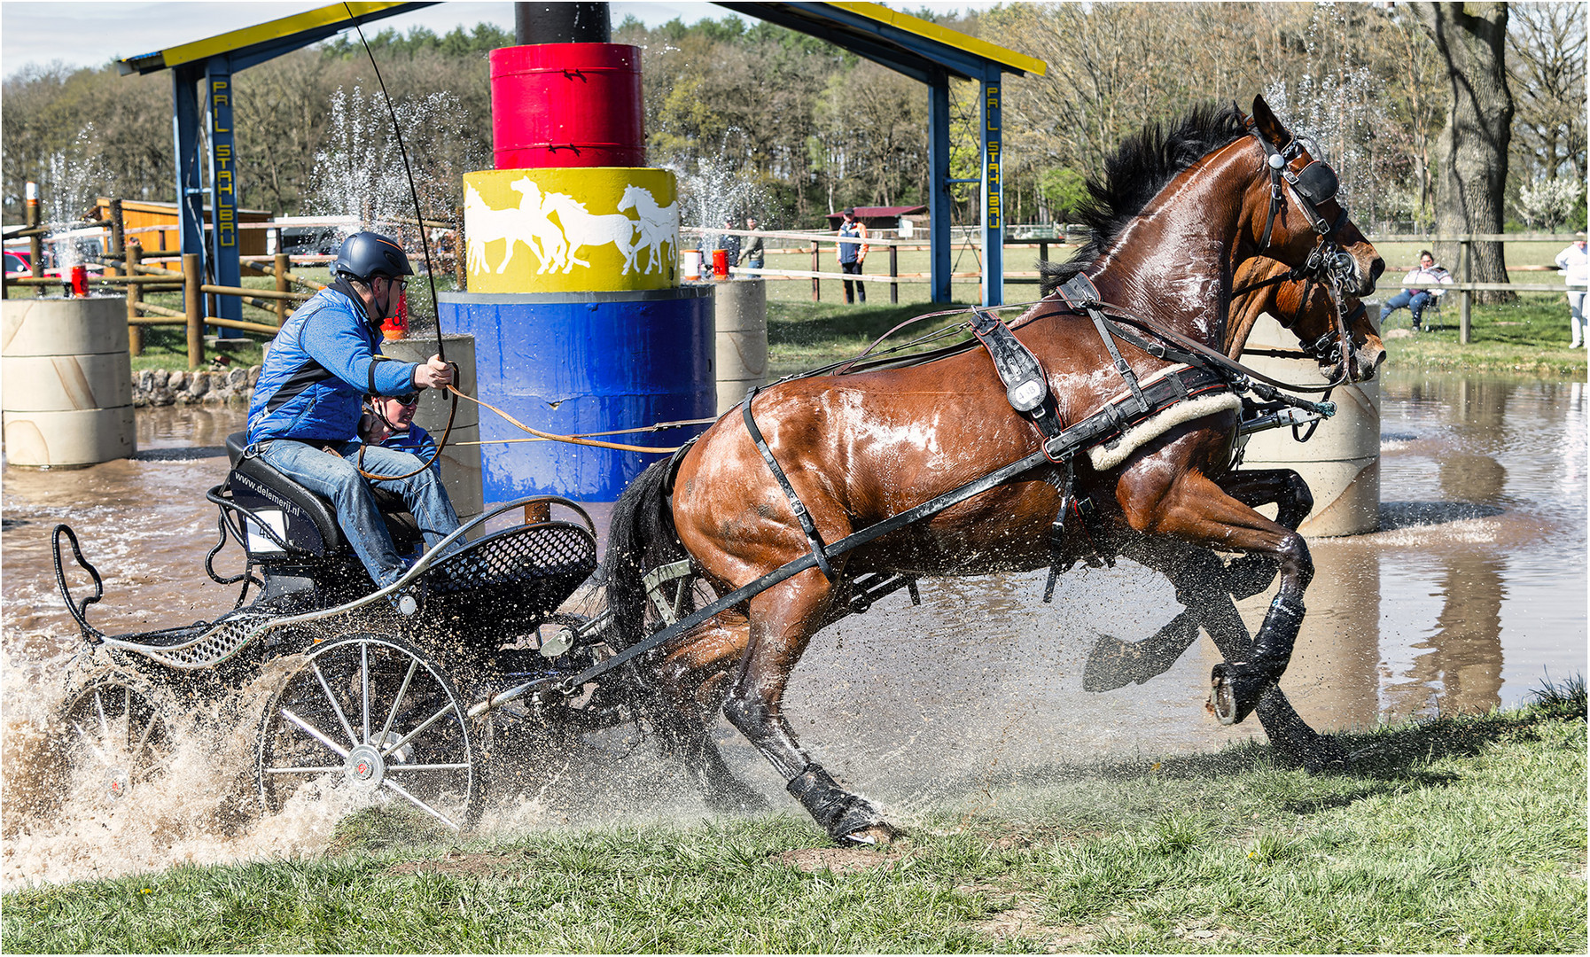
[(1237, 723), (1253, 712), (1264, 687), (1278, 680), (1291, 661), (1313, 560), (1301, 534), (1243, 506), (1202, 472), (1181, 472), (1169, 485), (1161, 475), (1161, 469), (1150, 467), (1123, 477), (1116, 498), (1127, 525), (1204, 548), (1267, 555), (1280, 566), (1280, 588), (1251, 653), (1216, 664), (1212, 676), (1216, 714), (1223, 723)]

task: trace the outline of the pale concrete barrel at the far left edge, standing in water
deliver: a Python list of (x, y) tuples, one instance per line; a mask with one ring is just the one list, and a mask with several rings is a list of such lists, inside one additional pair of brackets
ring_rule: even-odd
[(6, 299), (0, 418), (11, 466), (84, 467), (134, 455), (126, 302)]

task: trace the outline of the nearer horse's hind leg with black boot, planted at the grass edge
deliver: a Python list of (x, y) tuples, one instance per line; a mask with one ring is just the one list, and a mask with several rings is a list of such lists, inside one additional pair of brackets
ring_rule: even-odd
[(873, 844), (895, 830), (806, 755), (784, 719), (784, 688), (811, 636), (827, 620), (833, 587), (817, 569), (750, 599), (750, 645), (723, 714), (789, 782), (787, 790), (835, 841)]

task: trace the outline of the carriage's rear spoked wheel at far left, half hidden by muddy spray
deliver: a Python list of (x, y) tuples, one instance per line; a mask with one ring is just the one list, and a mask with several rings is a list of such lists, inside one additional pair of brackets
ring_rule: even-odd
[(162, 776), (175, 744), (162, 695), (121, 668), (89, 672), (59, 717), (64, 801), (118, 801)]

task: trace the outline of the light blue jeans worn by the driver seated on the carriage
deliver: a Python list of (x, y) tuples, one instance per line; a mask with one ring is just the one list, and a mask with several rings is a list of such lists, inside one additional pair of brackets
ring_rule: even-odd
[[(375, 507), (370, 485), (402, 496), (402, 501), (409, 504), (409, 512), (420, 525), (420, 534), (425, 536), (428, 548), (434, 548), (447, 537), (447, 533), (458, 528), (458, 513), (453, 512), (453, 502), (447, 499), (447, 490), (442, 488), (442, 480), (436, 477), (434, 469), (423, 469), (407, 478), (374, 482), (359, 475), (359, 442), (328, 442), (326, 445), (335, 447), (340, 455), (331, 455), (315, 445), (291, 439), (275, 439), (259, 444), (259, 456), (304, 488), (331, 499), (337, 509), (337, 525), (342, 526), (342, 534), (347, 536), (353, 553), (364, 563), (378, 588), (401, 579), (407, 566), (393, 545), (380, 509)], [(420, 466), (421, 459), (407, 451), (382, 448), (380, 445), (364, 447), (366, 472), (405, 475)]]

